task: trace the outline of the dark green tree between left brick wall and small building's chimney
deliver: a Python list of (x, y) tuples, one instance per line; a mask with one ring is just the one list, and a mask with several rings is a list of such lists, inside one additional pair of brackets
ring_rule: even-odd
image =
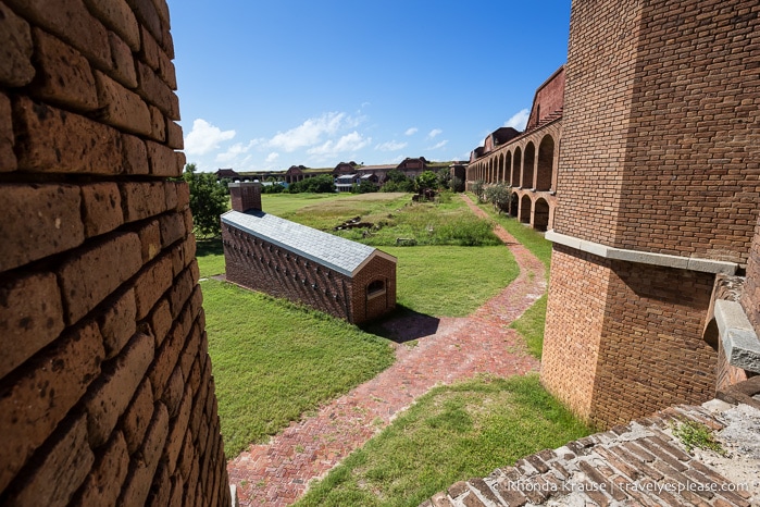
[(224, 185), (212, 173), (199, 173), (195, 163), (185, 165), (183, 180), (190, 187), (190, 211), (192, 211), (194, 232), (199, 237), (212, 237), (222, 234), (219, 217), (227, 211), (227, 194)]

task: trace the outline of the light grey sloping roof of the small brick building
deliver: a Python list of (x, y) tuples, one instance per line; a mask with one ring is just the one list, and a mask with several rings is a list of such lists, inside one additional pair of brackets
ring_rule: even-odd
[(263, 211), (251, 210), (247, 213), (227, 211), (222, 215), (222, 223), (233, 225), (347, 276), (351, 276), (375, 253), (395, 260), (393, 256), (374, 247), (334, 236)]

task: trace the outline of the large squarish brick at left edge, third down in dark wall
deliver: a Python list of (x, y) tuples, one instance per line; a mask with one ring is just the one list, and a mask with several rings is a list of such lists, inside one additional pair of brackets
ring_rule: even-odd
[(3, 255), (0, 271), (82, 245), (79, 188), (68, 185), (4, 184), (0, 187)]

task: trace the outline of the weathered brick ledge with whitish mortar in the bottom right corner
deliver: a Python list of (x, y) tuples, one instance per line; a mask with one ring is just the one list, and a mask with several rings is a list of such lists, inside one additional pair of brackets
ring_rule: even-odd
[(751, 490), (736, 487), (685, 453), (666, 433), (673, 420), (696, 421), (715, 431), (725, 425), (703, 407), (671, 407), (558, 449), (541, 450), (485, 479), (458, 482), (420, 507), (760, 505), (760, 494), (752, 496)]

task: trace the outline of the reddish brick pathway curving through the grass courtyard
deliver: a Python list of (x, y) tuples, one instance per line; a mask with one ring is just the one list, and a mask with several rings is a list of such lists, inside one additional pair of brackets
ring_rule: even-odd
[(536, 359), (520, 351), (522, 338), (507, 326), (546, 290), (544, 264), (500, 226), (496, 233), (520, 267), (518, 279), (468, 318), (422, 316), (387, 323), (396, 335), (419, 338), (416, 345), (398, 345), (396, 362), (379, 375), (232, 459), (227, 470), (240, 505), (294, 503), (310, 480), (323, 477), (436, 384), (538, 369)]

